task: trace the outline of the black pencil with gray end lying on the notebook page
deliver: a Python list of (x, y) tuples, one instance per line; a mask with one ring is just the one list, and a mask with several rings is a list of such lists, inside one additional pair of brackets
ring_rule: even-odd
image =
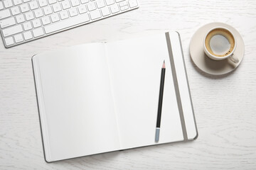
[(164, 77), (165, 77), (165, 61), (161, 68), (161, 80), (160, 80), (160, 90), (159, 90), (159, 106), (157, 110), (157, 119), (156, 119), (156, 138), (155, 142), (159, 142), (160, 135), (160, 125), (161, 125), (161, 110), (163, 104), (163, 96), (164, 96)]

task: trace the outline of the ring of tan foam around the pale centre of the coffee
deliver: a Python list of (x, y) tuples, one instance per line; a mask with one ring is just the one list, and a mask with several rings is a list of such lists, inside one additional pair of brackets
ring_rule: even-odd
[[(229, 50), (222, 55), (215, 54), (210, 47), (210, 40), (211, 40), (211, 38), (213, 38), (214, 35), (223, 35), (225, 38), (228, 39), (228, 42), (230, 43)], [(206, 49), (208, 50), (208, 52), (210, 52), (211, 55), (214, 55), (216, 57), (225, 57), (233, 51), (234, 47), (235, 47), (235, 39), (234, 39), (233, 35), (228, 30), (225, 30), (223, 28), (216, 28), (214, 30), (211, 30), (210, 33), (208, 33), (208, 35), (206, 35)]]

